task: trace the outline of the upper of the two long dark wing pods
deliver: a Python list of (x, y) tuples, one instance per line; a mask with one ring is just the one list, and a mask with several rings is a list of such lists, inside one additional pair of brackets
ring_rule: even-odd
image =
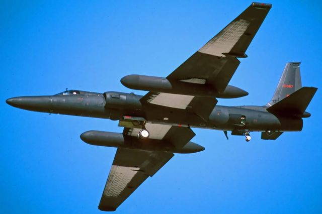
[(178, 81), (169, 81), (164, 77), (127, 75), (121, 79), (121, 83), (128, 88), (135, 90), (146, 90), (155, 92), (165, 92), (174, 94), (184, 94), (193, 96), (206, 96), (218, 98), (237, 98), (248, 95), (248, 92), (232, 85), (218, 92), (210, 84), (206, 84), (206, 79), (189, 78)]

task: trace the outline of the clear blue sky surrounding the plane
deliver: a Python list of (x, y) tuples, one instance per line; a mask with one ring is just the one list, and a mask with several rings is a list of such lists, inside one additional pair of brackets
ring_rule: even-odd
[[(321, 88), (322, 4), (273, 8), (230, 81), (250, 94), (222, 105), (262, 105), (286, 62), (300, 61), (304, 86)], [(243, 12), (249, 1), (2, 1), (0, 8), (0, 210), (99, 213), (115, 148), (79, 138), (121, 132), (117, 122), (34, 113), (5, 100), (69, 89), (131, 92), (128, 74), (167, 76)], [(320, 89), (319, 89), (320, 90)], [(321, 93), (302, 132), (252, 141), (194, 129), (206, 148), (177, 154), (116, 213), (321, 213)], [(144, 94), (143, 91), (134, 91)]]

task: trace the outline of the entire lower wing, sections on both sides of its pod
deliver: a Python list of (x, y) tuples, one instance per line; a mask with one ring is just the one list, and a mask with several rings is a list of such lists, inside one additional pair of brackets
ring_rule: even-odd
[[(177, 148), (186, 145), (195, 133), (187, 127), (146, 124), (150, 139), (173, 143)], [(124, 128), (123, 135), (137, 136), (140, 129)], [(99, 209), (114, 211), (143, 181), (153, 176), (172, 157), (171, 152), (118, 148), (108, 176)]]

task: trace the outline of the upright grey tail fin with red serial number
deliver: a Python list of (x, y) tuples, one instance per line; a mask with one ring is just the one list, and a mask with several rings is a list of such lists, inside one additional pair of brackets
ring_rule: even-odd
[(300, 64), (300, 62), (286, 63), (273, 98), (266, 104), (266, 106), (274, 105), (276, 102), (284, 99), (302, 87)]

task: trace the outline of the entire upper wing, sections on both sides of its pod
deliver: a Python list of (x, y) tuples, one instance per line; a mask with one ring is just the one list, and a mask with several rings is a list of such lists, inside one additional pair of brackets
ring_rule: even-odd
[[(208, 84), (218, 92), (224, 91), (246, 50), (271, 9), (270, 4), (253, 3), (195, 54), (187, 59), (167, 79), (192, 84)], [(209, 97), (148, 92), (143, 104), (156, 104), (191, 110), (207, 120), (217, 100)]]

